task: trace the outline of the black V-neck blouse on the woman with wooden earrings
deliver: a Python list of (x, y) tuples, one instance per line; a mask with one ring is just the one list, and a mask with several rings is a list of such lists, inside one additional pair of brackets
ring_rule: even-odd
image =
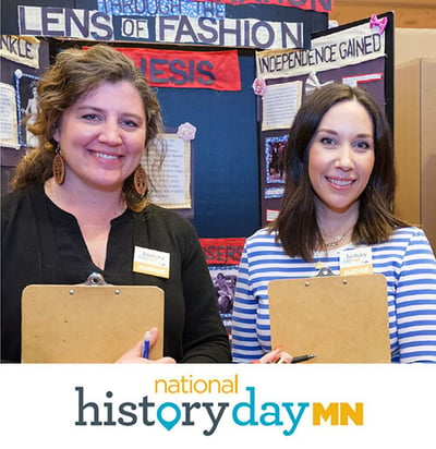
[[(192, 225), (149, 205), (111, 221), (105, 270), (92, 262), (74, 216), (57, 207), (43, 186), (16, 192), (1, 205), (1, 360), (21, 360), (21, 292), (31, 283), (84, 282), (100, 272), (114, 284), (157, 286), (165, 291), (164, 354), (178, 362), (230, 362), (229, 339)], [(134, 247), (170, 254), (170, 277), (133, 272)], [(129, 348), (126, 348), (128, 350)]]

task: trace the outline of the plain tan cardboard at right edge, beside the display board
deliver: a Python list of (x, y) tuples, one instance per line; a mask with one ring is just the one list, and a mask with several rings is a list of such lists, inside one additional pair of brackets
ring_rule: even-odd
[(396, 210), (436, 252), (436, 58), (398, 64), (395, 76)]

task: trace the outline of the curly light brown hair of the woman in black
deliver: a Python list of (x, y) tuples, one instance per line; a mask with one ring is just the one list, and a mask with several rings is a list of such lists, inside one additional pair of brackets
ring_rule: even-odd
[[(58, 145), (53, 134), (62, 113), (102, 82), (120, 81), (132, 83), (143, 99), (147, 118), (145, 154), (152, 147), (161, 151), (161, 145), (157, 145), (164, 130), (160, 106), (134, 62), (104, 44), (86, 50), (69, 48), (57, 54), (55, 63), (38, 82), (38, 111), (35, 123), (29, 126), (29, 131), (38, 137), (38, 146), (24, 156), (16, 167), (11, 181), (13, 191), (44, 183), (52, 177), (52, 160)], [(124, 181), (123, 192), (131, 209), (140, 211), (146, 206), (146, 196), (138, 195), (133, 186), (133, 174)]]

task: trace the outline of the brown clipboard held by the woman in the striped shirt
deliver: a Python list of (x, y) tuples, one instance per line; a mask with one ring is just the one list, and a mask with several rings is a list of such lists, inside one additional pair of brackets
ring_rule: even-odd
[(386, 278), (328, 276), (269, 282), (271, 345), (307, 363), (390, 363)]

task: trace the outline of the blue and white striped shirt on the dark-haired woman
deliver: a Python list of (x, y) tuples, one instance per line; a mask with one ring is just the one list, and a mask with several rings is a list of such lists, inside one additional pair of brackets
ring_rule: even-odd
[[(259, 359), (270, 347), (268, 283), (307, 278), (319, 263), (339, 274), (340, 251), (315, 253), (313, 262), (289, 257), (265, 229), (250, 236), (240, 260), (232, 323), (234, 362)], [(388, 242), (372, 246), (373, 272), (387, 280), (392, 362), (436, 363), (436, 260), (424, 232), (396, 230)]]

